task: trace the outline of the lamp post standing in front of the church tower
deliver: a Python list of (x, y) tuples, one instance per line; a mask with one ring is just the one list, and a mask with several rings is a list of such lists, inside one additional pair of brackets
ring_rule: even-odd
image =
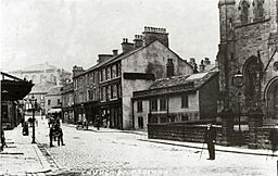
[(240, 88), (243, 86), (243, 75), (240, 73), (240, 71), (237, 72), (237, 74), (232, 77), (233, 85), (238, 88), (238, 111), (239, 111), (239, 138), (240, 142), (239, 146), (241, 146), (241, 124), (240, 124), (240, 115), (241, 115), (241, 109), (240, 109)]

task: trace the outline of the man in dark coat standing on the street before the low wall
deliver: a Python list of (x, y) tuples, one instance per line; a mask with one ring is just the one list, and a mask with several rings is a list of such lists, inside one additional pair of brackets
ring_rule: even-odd
[(205, 135), (204, 135), (204, 140), (207, 144), (207, 150), (208, 150), (208, 154), (210, 158), (207, 160), (215, 160), (215, 140), (216, 140), (216, 129), (215, 127), (213, 127), (212, 124), (207, 125)]

